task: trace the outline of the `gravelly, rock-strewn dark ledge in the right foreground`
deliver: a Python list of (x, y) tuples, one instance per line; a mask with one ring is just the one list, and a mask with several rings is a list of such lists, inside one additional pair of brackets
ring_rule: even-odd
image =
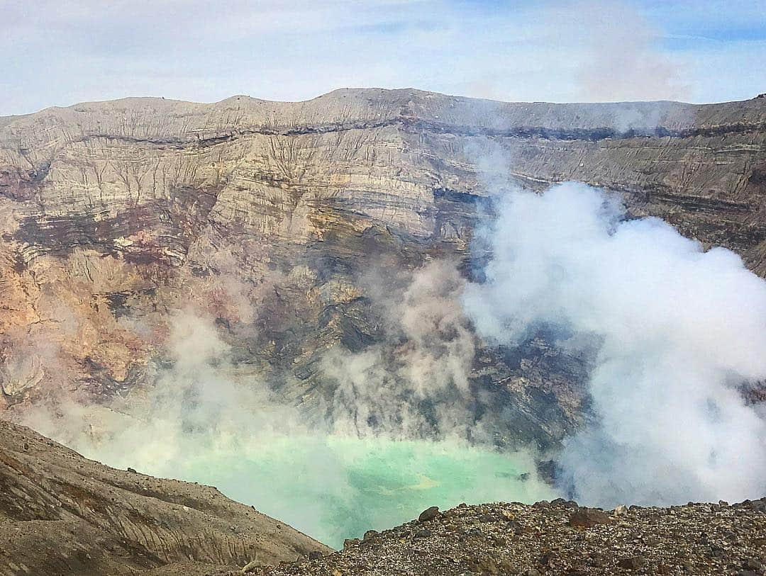
[(422, 520), (347, 541), (342, 552), (257, 573), (758, 576), (766, 564), (766, 499), (608, 512), (555, 500), (428, 512)]

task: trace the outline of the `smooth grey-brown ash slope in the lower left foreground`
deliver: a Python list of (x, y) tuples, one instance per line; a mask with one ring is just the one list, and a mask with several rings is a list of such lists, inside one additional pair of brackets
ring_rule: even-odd
[(214, 488), (114, 470), (0, 421), (3, 576), (180, 576), (328, 550)]

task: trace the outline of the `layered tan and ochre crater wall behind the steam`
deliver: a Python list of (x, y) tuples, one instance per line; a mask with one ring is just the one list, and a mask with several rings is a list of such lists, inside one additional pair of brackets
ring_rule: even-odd
[[(237, 363), (321, 412), (336, 390), (326, 350), (388, 338), (391, 308), (373, 292), (404, 294), (434, 259), (475, 273), (482, 255), (468, 246), (493, 182), (565, 180), (620, 190), (632, 213), (766, 275), (764, 99), (511, 104), (343, 89), (2, 119), (2, 402), (18, 411), (61, 391), (104, 402), (141, 386), (169, 313), (194, 308)], [(388, 355), (405, 340), (388, 338)], [(503, 407), (500, 441), (549, 446), (581, 421), (583, 360), (544, 337), (476, 347), (470, 386), (491, 399), (476, 410)]]

